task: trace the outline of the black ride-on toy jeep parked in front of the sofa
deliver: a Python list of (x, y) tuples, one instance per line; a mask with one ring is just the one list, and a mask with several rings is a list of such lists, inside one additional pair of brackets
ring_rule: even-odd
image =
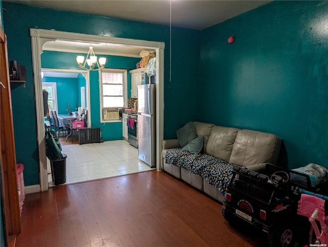
[(269, 246), (293, 246), (297, 226), (310, 229), (307, 219), (297, 215), (300, 188), (311, 190), (309, 176), (272, 164), (262, 173), (234, 166), (222, 216), (268, 234)]

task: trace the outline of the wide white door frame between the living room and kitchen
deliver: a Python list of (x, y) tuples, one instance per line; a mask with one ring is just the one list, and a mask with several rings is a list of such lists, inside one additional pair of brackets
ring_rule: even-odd
[(33, 63), (33, 81), (36, 105), (36, 125), (37, 125), (37, 141), (39, 153), (39, 170), (40, 170), (40, 191), (48, 190), (48, 171), (46, 157), (46, 141), (44, 129), (44, 108), (42, 95), (42, 78), (41, 78), (41, 54), (43, 53), (43, 45), (48, 41), (58, 38), (64, 40), (79, 40), (81, 42), (101, 42), (118, 44), (127, 47), (140, 47), (145, 49), (156, 50), (156, 168), (162, 170), (160, 155), (161, 143), (163, 140), (164, 129), (164, 49), (165, 43), (151, 42), (147, 40), (106, 37), (91, 34), (62, 32), (45, 29), (30, 29), (31, 46), (32, 46), (32, 63)]

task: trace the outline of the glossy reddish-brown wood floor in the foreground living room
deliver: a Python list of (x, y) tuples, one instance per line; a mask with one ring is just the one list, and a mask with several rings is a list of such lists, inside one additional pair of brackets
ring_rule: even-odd
[(26, 195), (17, 247), (265, 246), (221, 204), (165, 172), (57, 186)]

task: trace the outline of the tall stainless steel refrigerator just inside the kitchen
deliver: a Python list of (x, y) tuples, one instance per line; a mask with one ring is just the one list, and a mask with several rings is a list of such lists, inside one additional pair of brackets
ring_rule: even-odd
[(138, 85), (139, 159), (156, 167), (155, 84)]

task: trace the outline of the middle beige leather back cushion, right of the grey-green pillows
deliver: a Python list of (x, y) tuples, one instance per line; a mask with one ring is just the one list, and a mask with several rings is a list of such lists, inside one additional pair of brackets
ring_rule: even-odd
[(229, 162), (237, 128), (214, 126), (207, 142), (206, 153)]

